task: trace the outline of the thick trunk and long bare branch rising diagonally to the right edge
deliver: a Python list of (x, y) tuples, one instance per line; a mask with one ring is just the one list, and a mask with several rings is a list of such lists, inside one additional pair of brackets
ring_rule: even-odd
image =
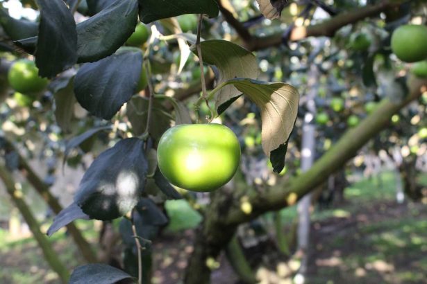
[[(328, 179), (333, 172), (353, 157), (367, 141), (376, 136), (390, 124), (393, 114), (408, 105), (412, 100), (427, 91), (427, 80), (411, 80), (408, 84), (410, 94), (400, 103), (385, 99), (376, 112), (365, 118), (357, 127), (348, 130), (328, 152), (303, 174), (294, 177), (285, 184), (278, 184), (261, 191), (248, 191), (248, 188), (235, 188), (231, 195), (224, 188), (212, 195), (212, 202), (207, 208), (205, 219), (196, 233), (194, 251), (190, 257), (185, 273), (185, 283), (209, 283), (210, 269), (206, 265), (208, 258), (216, 258), (221, 249), (233, 238), (239, 224), (257, 218), (267, 211), (276, 211), (292, 206), (298, 199)], [(252, 205), (250, 214), (240, 209), (239, 193), (249, 197)]]

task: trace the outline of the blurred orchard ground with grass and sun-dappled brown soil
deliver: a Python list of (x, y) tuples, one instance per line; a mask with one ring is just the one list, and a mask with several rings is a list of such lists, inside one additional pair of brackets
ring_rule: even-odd
[[(426, 175), (421, 182), (427, 184)], [(344, 204), (315, 210), (308, 283), (424, 283), (427, 206), (409, 201), (396, 204), (395, 184), (392, 172), (359, 178), (344, 191)], [(176, 283), (182, 278), (192, 251), (193, 230), (201, 220), (183, 201), (169, 204), (168, 212), (171, 222), (153, 243), (153, 283)], [(296, 208), (281, 213), (290, 224), (296, 217)], [(45, 227), (48, 224), (47, 221)], [(77, 224), (88, 240), (97, 243), (97, 224), (88, 221)], [(65, 233), (58, 233), (53, 240), (69, 269), (83, 262)], [(268, 249), (263, 253), (269, 256)], [(32, 238), (12, 240), (8, 231), (0, 228), (0, 255), (1, 283), (59, 283)], [(258, 274), (278, 279), (281, 274), (278, 267), (281, 265)], [(221, 267), (212, 273), (212, 283), (238, 283), (224, 257)]]

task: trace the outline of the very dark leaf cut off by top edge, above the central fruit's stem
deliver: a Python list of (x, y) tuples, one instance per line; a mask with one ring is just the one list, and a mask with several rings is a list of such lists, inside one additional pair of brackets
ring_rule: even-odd
[(206, 14), (213, 18), (219, 13), (215, 0), (138, 0), (138, 2), (140, 19), (145, 24), (184, 14)]

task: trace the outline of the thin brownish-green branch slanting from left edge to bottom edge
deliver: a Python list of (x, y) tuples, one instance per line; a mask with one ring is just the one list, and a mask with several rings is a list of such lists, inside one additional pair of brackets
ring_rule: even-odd
[(49, 240), (47, 240), (47, 237), (44, 236), (44, 233), (40, 231), (40, 226), (37, 223), (37, 220), (35, 220), (33, 213), (31, 213), (30, 209), (28, 208), (28, 205), (22, 198), (22, 192), (17, 190), (17, 188), (15, 187), (15, 181), (13, 180), (12, 173), (8, 169), (6, 169), (5, 166), (1, 165), (0, 179), (3, 180), (3, 184), (6, 186), (6, 190), (10, 195), (10, 198), (13, 200), (13, 202), (19, 209), (19, 212), (21, 212), (22, 217), (24, 217), (24, 220), (26, 221), (28, 227), (33, 233), (35, 240), (37, 240), (37, 243), (42, 249), (44, 258), (46, 259), (47, 263), (49, 263), (53, 271), (58, 274), (62, 283), (67, 283), (69, 278), (69, 272), (67, 270), (67, 267), (62, 264), (61, 260), (58, 258), (58, 254), (56, 254), (56, 251), (53, 250)]

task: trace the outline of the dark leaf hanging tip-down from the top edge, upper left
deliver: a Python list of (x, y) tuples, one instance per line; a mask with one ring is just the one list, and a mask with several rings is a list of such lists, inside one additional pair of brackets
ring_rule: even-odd
[(51, 78), (77, 61), (76, 22), (62, 0), (37, 0), (40, 25), (35, 48), (39, 75)]

